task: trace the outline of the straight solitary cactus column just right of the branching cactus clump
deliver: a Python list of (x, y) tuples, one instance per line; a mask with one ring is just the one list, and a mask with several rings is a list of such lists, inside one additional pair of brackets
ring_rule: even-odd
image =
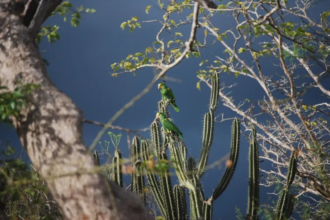
[(249, 192), (247, 216), (250, 220), (258, 219), (259, 209), (259, 148), (257, 132), (252, 127), (252, 140), (249, 149)]

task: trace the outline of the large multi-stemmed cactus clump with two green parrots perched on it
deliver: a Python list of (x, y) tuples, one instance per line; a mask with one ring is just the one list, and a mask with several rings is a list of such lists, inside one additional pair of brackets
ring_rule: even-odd
[[(203, 176), (208, 163), (209, 153), (214, 138), (214, 113), (219, 99), (219, 75), (211, 77), (212, 90), (210, 96), (210, 108), (204, 116), (202, 150), (196, 164), (192, 157), (187, 158), (187, 148), (178, 138), (168, 135), (157, 121), (151, 124), (151, 141), (139, 140), (134, 137), (131, 152), (131, 162), (137, 170), (132, 175), (132, 190), (141, 194), (141, 179), (138, 180), (138, 174), (141, 174), (141, 167), (144, 168), (144, 175), (148, 181), (149, 188), (154, 195), (155, 201), (159, 207), (162, 216), (169, 220), (185, 219), (212, 219), (213, 203), (227, 188), (233, 177), (238, 161), (240, 145), (240, 123), (234, 119), (232, 125), (230, 162), (226, 171), (218, 183), (212, 195), (205, 199), (201, 177)], [(167, 107), (169, 102), (161, 100), (158, 103), (159, 112), (169, 116)], [(169, 149), (170, 157), (167, 155)], [(120, 170), (118, 167), (118, 153), (116, 149), (114, 157), (115, 173)], [(117, 158), (117, 159), (115, 159)], [(168, 161), (170, 158), (170, 161)], [(173, 166), (176, 176), (180, 182), (179, 185), (172, 187), (171, 176), (169, 175), (169, 166), (159, 169), (161, 163), (170, 162)], [(120, 173), (121, 174), (121, 173)], [(119, 176), (119, 175), (115, 175)], [(121, 177), (121, 176), (120, 176)], [(118, 182), (119, 179), (114, 179)], [(121, 183), (122, 184), (122, 183)], [(187, 189), (190, 202), (190, 214), (187, 213), (187, 201), (185, 190)]]

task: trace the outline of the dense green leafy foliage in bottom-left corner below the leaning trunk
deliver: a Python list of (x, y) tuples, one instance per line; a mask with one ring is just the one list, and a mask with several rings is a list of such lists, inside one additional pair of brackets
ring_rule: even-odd
[[(7, 148), (5, 155), (14, 153), (12, 147)], [(0, 203), (11, 219), (62, 219), (45, 181), (21, 159), (1, 160)]]

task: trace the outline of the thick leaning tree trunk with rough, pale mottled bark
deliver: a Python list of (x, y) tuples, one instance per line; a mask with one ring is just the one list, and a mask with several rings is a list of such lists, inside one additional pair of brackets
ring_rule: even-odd
[(47, 76), (34, 39), (61, 0), (41, 0), (25, 27), (0, 0), (0, 80), (13, 91), (19, 81), (40, 84), (31, 103), (13, 118), (17, 134), (66, 219), (151, 219), (140, 198), (94, 169), (82, 141), (82, 113)]

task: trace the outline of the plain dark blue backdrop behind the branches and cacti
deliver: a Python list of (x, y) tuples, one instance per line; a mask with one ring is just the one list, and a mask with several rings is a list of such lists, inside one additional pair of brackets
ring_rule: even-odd
[[(59, 42), (50, 44), (43, 39), (40, 45), (42, 56), (48, 60), (48, 74), (54, 84), (66, 93), (78, 107), (84, 112), (84, 117), (106, 123), (124, 104), (129, 102), (133, 96), (141, 92), (154, 77), (153, 69), (146, 68), (132, 73), (122, 74), (118, 77), (111, 76), (110, 65), (114, 62), (125, 59), (129, 54), (143, 52), (145, 48), (152, 46), (155, 35), (160, 25), (156, 23), (142, 23), (141, 29), (132, 33), (126, 28), (121, 30), (120, 24), (138, 16), (139, 20), (151, 20), (160, 18), (163, 12), (151, 8), (150, 13), (145, 13), (147, 5), (156, 6), (155, 0), (73, 0), (75, 6), (96, 9), (94, 14), (82, 15), (81, 24), (74, 28), (69, 22), (63, 22), (63, 18), (56, 16), (50, 18), (47, 24), (60, 26)], [(225, 4), (227, 1), (223, 1)], [(192, 11), (186, 10), (182, 15), (175, 15), (185, 19)], [(231, 15), (224, 14), (213, 19), (214, 24), (220, 29), (234, 27)], [(231, 22), (230, 22), (231, 21)], [(189, 26), (180, 29), (184, 34), (183, 39), (189, 38)], [(198, 36), (202, 36), (201, 29), (198, 29)], [(202, 40), (202, 38), (198, 38)], [(202, 50), (202, 58), (191, 58), (184, 60), (180, 65), (171, 69), (167, 76), (181, 80), (181, 83), (167, 82), (175, 93), (180, 112), (174, 112), (169, 107), (171, 117), (180, 128), (185, 137), (188, 149), (188, 156), (199, 158), (202, 142), (203, 115), (208, 111), (210, 90), (201, 83), (201, 91), (196, 88), (196, 72), (200, 69), (198, 64), (201, 60), (213, 60), (215, 55), (222, 56), (223, 48), (217, 44), (208, 50)], [(268, 69), (267, 69), (268, 68)], [(264, 68), (265, 71), (272, 71), (273, 66)], [(237, 99), (249, 98), (256, 100), (262, 98), (258, 87), (253, 86), (252, 80), (247, 78), (235, 78), (234, 76), (222, 76), (221, 81), (230, 85), (233, 82), (239, 83), (239, 87), (233, 91), (232, 96)], [(139, 129), (148, 127), (155, 118), (157, 102), (160, 100), (160, 93), (157, 84), (152, 90), (139, 100), (132, 108), (128, 109), (114, 125), (125, 128)], [(225, 113), (231, 117), (233, 114), (219, 102), (216, 115)], [(95, 125), (84, 125), (84, 140), (90, 146), (101, 127)], [(119, 134), (119, 131), (113, 131)], [(231, 121), (222, 124), (215, 124), (214, 142), (211, 148), (209, 163), (213, 163), (230, 151)], [(9, 140), (11, 145), (21, 152), (21, 145), (16, 137), (15, 130), (8, 131), (8, 127), (0, 127), (1, 140)], [(148, 132), (143, 133), (149, 137)], [(4, 138), (5, 137), (5, 138)], [(133, 136), (131, 136), (131, 139)], [(101, 141), (110, 141), (105, 134)], [(243, 214), (246, 213), (247, 188), (248, 188), (248, 141), (241, 137), (241, 150), (236, 172), (227, 190), (214, 203), (214, 218), (235, 219), (235, 207)], [(100, 147), (97, 146), (97, 150)], [(114, 148), (112, 147), (110, 153)], [(123, 156), (127, 157), (126, 134), (120, 143), (120, 150)], [(23, 153), (24, 156), (24, 153)], [(24, 158), (27, 158), (24, 156)], [(102, 159), (102, 158), (101, 158)], [(104, 159), (104, 158), (103, 158)], [(261, 163), (262, 166), (262, 163)], [(206, 171), (202, 183), (206, 197), (209, 197), (221, 180), (224, 173), (222, 168), (214, 168)], [(128, 179), (129, 176), (126, 176)], [(173, 181), (173, 184), (177, 184)], [(261, 202), (266, 202), (266, 193), (261, 188)]]

